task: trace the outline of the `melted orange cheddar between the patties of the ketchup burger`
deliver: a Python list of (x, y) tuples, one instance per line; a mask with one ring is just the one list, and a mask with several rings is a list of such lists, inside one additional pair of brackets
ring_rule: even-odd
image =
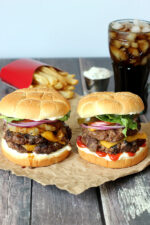
[(128, 137), (122, 139), (121, 141), (117, 141), (117, 142), (100, 141), (100, 144), (106, 148), (111, 148), (114, 145), (121, 143), (123, 140), (126, 140), (127, 142), (132, 142), (137, 139), (146, 139), (146, 138), (147, 138), (146, 133), (141, 132), (141, 133), (137, 133), (136, 135), (133, 135), (133, 136), (128, 136)]

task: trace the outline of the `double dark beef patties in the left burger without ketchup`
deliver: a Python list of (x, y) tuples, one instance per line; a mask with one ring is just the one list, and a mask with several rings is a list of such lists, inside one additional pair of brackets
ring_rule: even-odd
[[(5, 130), (4, 139), (7, 141), (7, 144), (10, 148), (16, 149), (18, 152), (25, 153), (28, 152), (23, 145), (30, 144), (36, 145), (33, 152), (39, 154), (49, 154), (51, 152), (55, 152), (58, 149), (67, 145), (71, 139), (71, 129), (62, 123), (63, 126), (59, 126), (59, 130), (61, 130), (64, 134), (61, 141), (64, 144), (60, 144), (58, 142), (51, 142), (42, 137), (41, 135), (30, 135), (30, 134), (23, 134), (18, 132), (13, 132), (8, 129)], [(58, 130), (58, 131), (59, 131)]]

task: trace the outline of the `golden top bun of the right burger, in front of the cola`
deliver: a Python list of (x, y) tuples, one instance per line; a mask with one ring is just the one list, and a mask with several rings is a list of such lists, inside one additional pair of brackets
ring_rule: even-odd
[(142, 99), (130, 92), (95, 92), (84, 96), (77, 107), (82, 118), (103, 114), (137, 114), (143, 110)]

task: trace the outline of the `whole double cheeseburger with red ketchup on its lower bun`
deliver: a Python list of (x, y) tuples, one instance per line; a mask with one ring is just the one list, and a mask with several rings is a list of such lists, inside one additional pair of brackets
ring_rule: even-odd
[(77, 138), (80, 156), (90, 163), (125, 168), (148, 154), (147, 135), (140, 132), (141, 98), (130, 92), (97, 92), (84, 96), (77, 112), (82, 135)]

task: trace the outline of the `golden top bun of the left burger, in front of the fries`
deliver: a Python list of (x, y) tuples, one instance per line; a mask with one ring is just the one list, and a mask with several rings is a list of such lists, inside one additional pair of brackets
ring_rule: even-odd
[(43, 120), (63, 117), (69, 102), (52, 88), (24, 88), (6, 95), (0, 101), (0, 113), (7, 117)]

